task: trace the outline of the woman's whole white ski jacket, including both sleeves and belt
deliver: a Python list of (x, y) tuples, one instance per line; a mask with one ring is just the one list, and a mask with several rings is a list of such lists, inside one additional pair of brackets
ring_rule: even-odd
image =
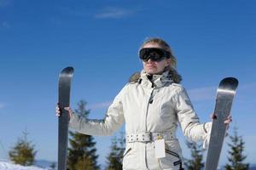
[[(185, 89), (174, 83), (168, 72), (155, 75), (152, 80), (142, 71), (137, 82), (126, 84), (115, 97), (103, 120), (73, 114), (69, 127), (89, 135), (111, 135), (125, 122), (123, 169), (182, 169), (177, 125), (189, 139), (203, 140), (206, 144), (211, 122), (199, 122)], [(165, 139), (164, 158), (155, 158), (157, 139)]]

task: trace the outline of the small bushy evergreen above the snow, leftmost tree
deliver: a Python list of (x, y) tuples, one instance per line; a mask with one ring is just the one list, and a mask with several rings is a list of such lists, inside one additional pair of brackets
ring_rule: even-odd
[(16, 164), (30, 166), (35, 160), (37, 151), (34, 144), (27, 139), (27, 132), (23, 132), (23, 138), (19, 138), (15, 146), (9, 151), (9, 158)]

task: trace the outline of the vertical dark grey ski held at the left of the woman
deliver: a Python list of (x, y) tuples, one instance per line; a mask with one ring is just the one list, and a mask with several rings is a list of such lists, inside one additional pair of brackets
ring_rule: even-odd
[(68, 112), (64, 107), (69, 106), (70, 87), (73, 77), (73, 67), (67, 67), (61, 71), (59, 76), (59, 116), (58, 127), (58, 170), (67, 170), (67, 144), (68, 144)]

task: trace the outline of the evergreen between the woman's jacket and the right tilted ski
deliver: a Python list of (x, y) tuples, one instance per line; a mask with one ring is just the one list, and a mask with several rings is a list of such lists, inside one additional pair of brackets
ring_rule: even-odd
[(189, 141), (186, 144), (191, 151), (191, 159), (185, 161), (185, 166), (188, 170), (201, 170), (204, 167), (202, 144)]

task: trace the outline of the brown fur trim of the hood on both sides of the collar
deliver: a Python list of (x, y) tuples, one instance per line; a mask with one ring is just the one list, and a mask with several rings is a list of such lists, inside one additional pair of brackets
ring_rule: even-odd
[[(143, 72), (143, 71), (142, 71)], [(141, 78), (142, 72), (135, 72), (129, 78), (129, 82), (137, 82)], [(177, 73), (175, 69), (171, 69), (168, 72), (168, 77), (171, 77), (172, 81), (175, 83), (180, 83), (182, 81), (182, 77)]]

